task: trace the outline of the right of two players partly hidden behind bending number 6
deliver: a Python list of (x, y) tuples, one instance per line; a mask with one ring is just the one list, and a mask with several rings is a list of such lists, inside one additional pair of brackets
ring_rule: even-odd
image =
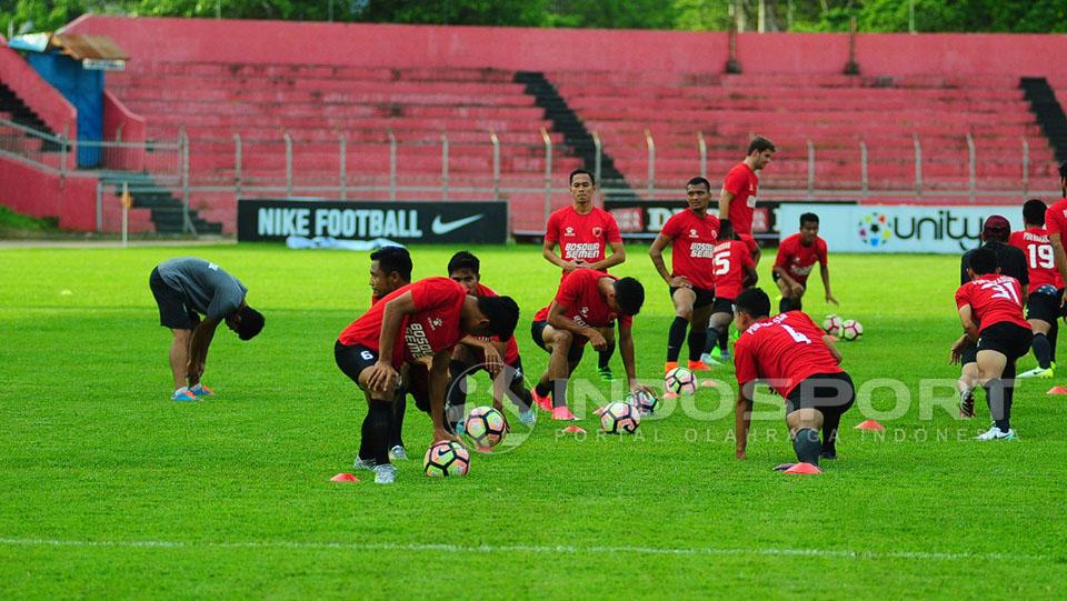
[[(473, 253), (461, 250), (448, 261), (448, 277), (467, 289), (475, 297), (498, 296), (491, 288), (481, 283), (481, 261)], [(500, 340), (498, 337), (467, 337), (456, 345), (449, 372), (452, 381), (448, 387), (448, 413), (456, 431), (467, 404), (467, 375), (486, 370), (492, 377), (492, 405), (503, 411), (500, 402), (507, 395), (519, 409), (519, 421), (534, 425), (534, 397), (526, 388), (522, 372), (522, 358), (515, 337)]]

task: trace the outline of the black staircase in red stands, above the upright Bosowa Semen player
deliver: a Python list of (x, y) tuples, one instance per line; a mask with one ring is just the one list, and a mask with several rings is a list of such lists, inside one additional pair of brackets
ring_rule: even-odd
[[(586, 129), (581, 119), (567, 106), (567, 101), (559, 96), (559, 91), (550, 81), (545, 79), (541, 71), (519, 71), (515, 81), (526, 86), (526, 93), (537, 99), (537, 106), (545, 109), (545, 116), (552, 122), (552, 131), (564, 134), (564, 142), (570, 152), (581, 158), (582, 168), (596, 172), (597, 149), (592, 134)], [(626, 178), (615, 167), (610, 154), (600, 153), (601, 188), (612, 188), (612, 198), (632, 200), (637, 194), (626, 183)]]

